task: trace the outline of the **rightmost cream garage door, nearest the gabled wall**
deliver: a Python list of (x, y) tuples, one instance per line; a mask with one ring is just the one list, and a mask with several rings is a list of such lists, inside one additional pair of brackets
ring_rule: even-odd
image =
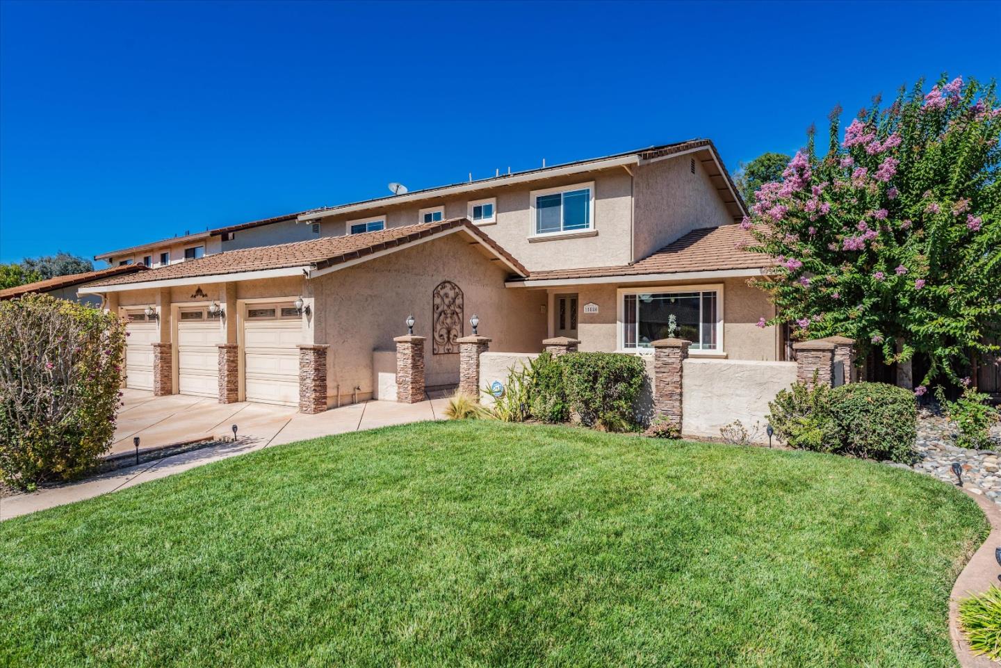
[(244, 396), (297, 406), (302, 317), (291, 303), (248, 304), (243, 318)]

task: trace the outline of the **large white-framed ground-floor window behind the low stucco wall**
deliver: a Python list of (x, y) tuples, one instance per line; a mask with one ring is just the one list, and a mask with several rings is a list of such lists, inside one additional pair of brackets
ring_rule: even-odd
[(692, 351), (722, 351), (719, 291), (627, 292), (623, 348), (650, 349), (660, 339), (687, 339)]

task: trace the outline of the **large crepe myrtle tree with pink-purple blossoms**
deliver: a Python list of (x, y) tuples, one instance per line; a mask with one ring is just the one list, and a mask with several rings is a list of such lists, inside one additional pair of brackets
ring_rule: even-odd
[(881, 349), (918, 395), (953, 384), (970, 358), (996, 352), (1001, 325), (1001, 107), (995, 84), (943, 76), (882, 108), (879, 96), (818, 156), (814, 132), (780, 181), (755, 193), (749, 250), (777, 259), (756, 281), (799, 340), (832, 335)]

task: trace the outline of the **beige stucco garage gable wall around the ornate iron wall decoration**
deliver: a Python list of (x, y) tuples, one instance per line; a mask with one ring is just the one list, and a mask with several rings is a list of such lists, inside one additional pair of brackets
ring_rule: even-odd
[(505, 287), (510, 270), (491, 261), (464, 232), (404, 247), (361, 264), (307, 281), (315, 298), (315, 340), (329, 345), (327, 387), (330, 401), (339, 392), (360, 397), (375, 391), (372, 352), (394, 351), (394, 337), (406, 333), (404, 319), (413, 313), (414, 333), (424, 343), (428, 387), (458, 382), (458, 355), (433, 355), (431, 294), (442, 280), (463, 292), (463, 333), (468, 318), (480, 318), (479, 333), (491, 348), (538, 351), (546, 338), (545, 292)]

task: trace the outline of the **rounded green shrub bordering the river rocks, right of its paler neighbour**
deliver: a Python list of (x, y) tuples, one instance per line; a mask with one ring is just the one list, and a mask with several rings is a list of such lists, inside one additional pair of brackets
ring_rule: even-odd
[(840, 452), (904, 463), (914, 459), (914, 393), (885, 383), (850, 383), (831, 391), (830, 407)]

